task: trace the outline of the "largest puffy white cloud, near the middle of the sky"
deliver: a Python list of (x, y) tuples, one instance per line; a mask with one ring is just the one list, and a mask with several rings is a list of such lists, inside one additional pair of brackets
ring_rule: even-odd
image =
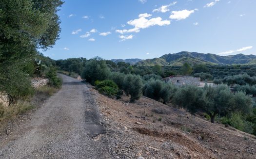
[[(146, 16), (149, 16), (149, 15), (146, 15)], [(146, 19), (145, 14), (140, 14), (140, 17), (138, 19), (130, 20), (127, 22), (127, 24), (132, 25), (135, 28), (145, 29), (155, 25), (159, 25), (159, 26), (169, 25), (171, 24), (171, 22), (170, 20), (162, 20), (161, 17)]]

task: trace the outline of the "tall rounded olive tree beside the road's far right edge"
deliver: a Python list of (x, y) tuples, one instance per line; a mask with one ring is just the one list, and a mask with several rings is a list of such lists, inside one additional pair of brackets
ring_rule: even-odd
[(90, 59), (86, 64), (82, 73), (82, 78), (86, 79), (87, 82), (94, 83), (96, 80), (109, 79), (110, 68), (106, 62), (99, 58)]

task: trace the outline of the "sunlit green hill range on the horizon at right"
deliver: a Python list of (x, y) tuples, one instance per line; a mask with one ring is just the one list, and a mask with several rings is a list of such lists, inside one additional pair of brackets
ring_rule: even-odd
[(155, 64), (161, 66), (176, 65), (180, 66), (184, 63), (195, 64), (256, 64), (255, 55), (229, 55), (219, 56), (216, 54), (204, 54), (198, 52), (182, 51), (174, 54), (166, 54), (159, 58), (142, 60), (137, 65), (152, 66)]

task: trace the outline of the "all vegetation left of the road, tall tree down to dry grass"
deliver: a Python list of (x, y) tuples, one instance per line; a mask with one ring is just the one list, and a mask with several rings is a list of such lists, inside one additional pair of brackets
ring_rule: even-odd
[[(61, 0), (0, 1), (0, 92), (7, 94), (9, 106), (0, 104), (0, 123), (33, 109), (33, 96), (52, 95), (60, 88), (56, 62), (38, 49), (48, 49), (59, 39)], [(47, 77), (47, 86), (35, 89), (31, 79)]]

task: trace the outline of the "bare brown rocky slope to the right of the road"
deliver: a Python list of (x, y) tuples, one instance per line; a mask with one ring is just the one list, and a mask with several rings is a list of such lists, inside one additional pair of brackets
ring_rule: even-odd
[(90, 90), (116, 159), (255, 159), (255, 136), (142, 97), (113, 100)]

